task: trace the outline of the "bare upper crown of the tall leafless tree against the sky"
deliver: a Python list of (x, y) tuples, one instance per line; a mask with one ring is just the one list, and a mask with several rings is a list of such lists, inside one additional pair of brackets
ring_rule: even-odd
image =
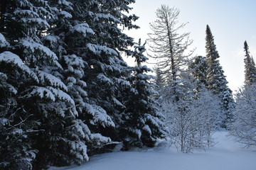
[(161, 69), (168, 84), (178, 80), (188, 56), (192, 54), (183, 54), (193, 41), (189, 39), (189, 33), (179, 33), (186, 26), (186, 23), (178, 25), (179, 13), (177, 8), (161, 5), (156, 10), (156, 21), (150, 23), (153, 33), (149, 33), (149, 47), (154, 54), (150, 57), (156, 60), (157, 68)]

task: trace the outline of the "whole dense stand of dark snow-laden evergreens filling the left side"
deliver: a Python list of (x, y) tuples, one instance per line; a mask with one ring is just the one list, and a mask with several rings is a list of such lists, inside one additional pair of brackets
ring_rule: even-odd
[(0, 169), (81, 164), (111, 140), (127, 149), (162, 137), (144, 46), (129, 50), (133, 38), (120, 29), (139, 28), (132, 3), (1, 1)]

